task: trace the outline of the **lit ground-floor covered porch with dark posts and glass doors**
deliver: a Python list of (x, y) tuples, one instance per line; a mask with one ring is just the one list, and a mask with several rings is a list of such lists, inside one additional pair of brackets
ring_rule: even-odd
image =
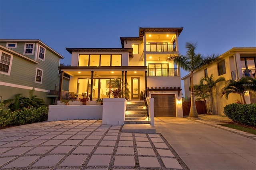
[(69, 92), (76, 97), (89, 97), (90, 100), (112, 98), (110, 90), (116, 89), (114, 81), (120, 83), (119, 88), (129, 91), (127, 97), (121, 93), (120, 98), (139, 99), (140, 91), (147, 90), (146, 66), (103, 66), (103, 67), (59, 67), (60, 84), (58, 100), (62, 99), (63, 74), (70, 75)]

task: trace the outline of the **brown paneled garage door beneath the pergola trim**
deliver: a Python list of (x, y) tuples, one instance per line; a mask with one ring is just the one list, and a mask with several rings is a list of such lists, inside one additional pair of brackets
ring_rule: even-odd
[(154, 116), (175, 116), (175, 95), (151, 95), (154, 98)]

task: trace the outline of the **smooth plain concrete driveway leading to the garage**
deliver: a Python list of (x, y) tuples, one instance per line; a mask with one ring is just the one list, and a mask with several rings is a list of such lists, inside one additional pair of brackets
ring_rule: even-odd
[[(155, 117), (155, 128), (190, 170), (256, 170), (256, 140), (227, 128), (176, 117)], [(235, 130), (234, 130), (235, 131)]]

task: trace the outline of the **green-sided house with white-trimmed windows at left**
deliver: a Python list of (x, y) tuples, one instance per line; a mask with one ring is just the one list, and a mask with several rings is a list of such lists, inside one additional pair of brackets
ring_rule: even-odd
[[(0, 98), (13, 99), (18, 93), (28, 97), (29, 90), (48, 105), (54, 103), (58, 90), (60, 59), (64, 57), (40, 40), (0, 39)], [(63, 89), (68, 90), (64, 78)]]

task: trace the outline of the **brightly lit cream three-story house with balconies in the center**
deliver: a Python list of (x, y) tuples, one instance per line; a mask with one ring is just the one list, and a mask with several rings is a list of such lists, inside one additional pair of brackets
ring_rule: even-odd
[(131, 92), (129, 100), (140, 100), (142, 93), (154, 98), (155, 116), (183, 117), (180, 68), (166, 61), (179, 53), (182, 30), (140, 28), (138, 37), (120, 37), (122, 48), (66, 48), (71, 66), (60, 73), (70, 75), (69, 91), (78, 97), (108, 98), (111, 81), (119, 79)]

